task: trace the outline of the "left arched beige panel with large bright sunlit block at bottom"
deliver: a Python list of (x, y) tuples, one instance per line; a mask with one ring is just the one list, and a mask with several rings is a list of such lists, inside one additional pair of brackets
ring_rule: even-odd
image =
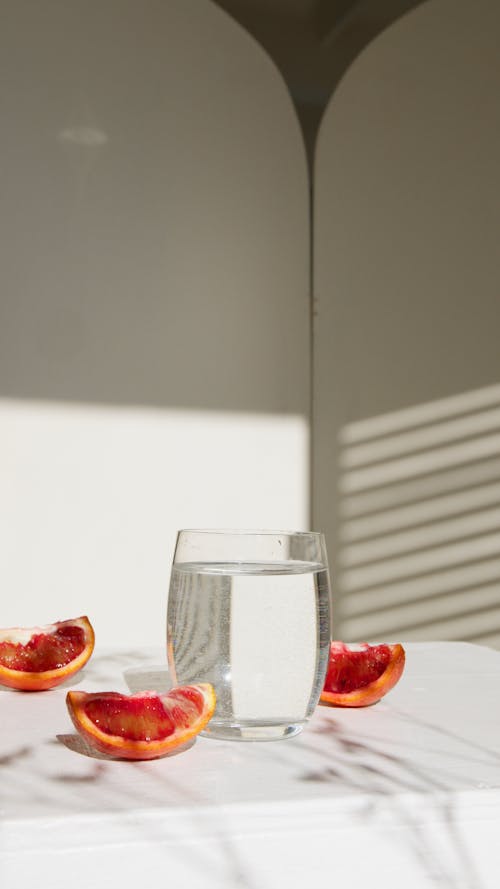
[(2, 4), (2, 624), (164, 642), (175, 531), (309, 521), (308, 181), (208, 0)]

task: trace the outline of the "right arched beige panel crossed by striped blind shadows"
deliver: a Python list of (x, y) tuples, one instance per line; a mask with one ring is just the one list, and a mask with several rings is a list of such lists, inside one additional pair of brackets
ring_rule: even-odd
[(348, 70), (315, 168), (313, 516), (334, 633), (500, 644), (500, 8)]

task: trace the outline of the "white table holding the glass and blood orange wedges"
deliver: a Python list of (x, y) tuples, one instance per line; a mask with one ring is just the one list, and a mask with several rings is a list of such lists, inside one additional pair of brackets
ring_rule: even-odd
[[(406, 650), (373, 707), (149, 763), (82, 752), (67, 687), (0, 691), (2, 889), (498, 889), (500, 652)], [(161, 686), (161, 662), (96, 651), (72, 685)]]

